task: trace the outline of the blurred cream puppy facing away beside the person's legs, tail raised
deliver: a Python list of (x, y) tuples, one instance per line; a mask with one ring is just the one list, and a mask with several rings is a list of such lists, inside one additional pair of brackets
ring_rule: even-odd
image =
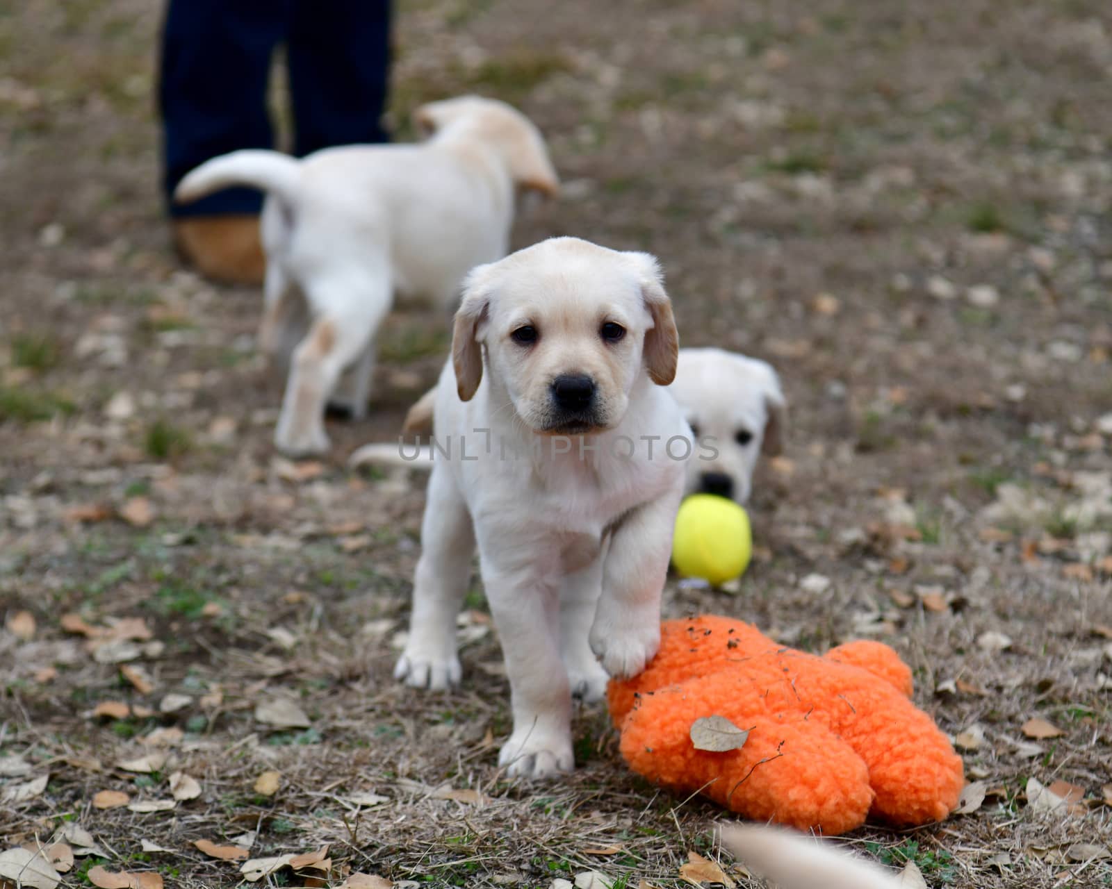
[(202, 163), (175, 193), (267, 192), (259, 343), (290, 366), (275, 431), (287, 453), (328, 450), (330, 399), (365, 414), (375, 336), (395, 294), (448, 309), (470, 268), (509, 249), (516, 190), (558, 188), (539, 131), (504, 102), (448, 99), (417, 109), (415, 121), (433, 133), (427, 142), (329, 148), (304, 160), (236, 151)]

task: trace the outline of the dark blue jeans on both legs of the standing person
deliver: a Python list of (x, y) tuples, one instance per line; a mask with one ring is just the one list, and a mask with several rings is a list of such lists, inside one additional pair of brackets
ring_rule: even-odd
[(175, 216), (257, 213), (262, 196), (227, 189), (195, 203), (169, 200), (209, 158), (272, 148), (267, 83), (286, 44), (294, 152), (384, 142), (390, 61), (389, 0), (169, 0), (158, 102), (162, 187)]

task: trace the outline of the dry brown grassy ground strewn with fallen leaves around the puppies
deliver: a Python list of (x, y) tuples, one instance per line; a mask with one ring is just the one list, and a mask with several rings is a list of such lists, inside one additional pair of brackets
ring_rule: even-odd
[[(757, 885), (717, 809), (627, 771), (602, 707), (574, 777), (498, 772), (477, 580), (463, 689), (393, 682), (423, 479), (345, 459), (396, 434), (446, 319), (391, 319), (373, 416), (330, 423), (327, 460), (275, 457), (259, 294), (182, 270), (163, 224), (158, 6), (0, 3), (0, 849), (68, 829), (97, 848), (66, 885), (239, 881), (196, 840), (328, 843), (302, 875), (329, 885), (677, 887), (691, 851)], [(852, 846), (932, 887), (1112, 885), (1108, 4), (419, 0), (397, 43), (403, 136), (466, 90), (547, 134), (565, 192), (517, 246), (653, 251), (685, 344), (780, 369), (754, 565), (733, 592), (669, 580), (666, 610), (914, 667), (984, 802)]]

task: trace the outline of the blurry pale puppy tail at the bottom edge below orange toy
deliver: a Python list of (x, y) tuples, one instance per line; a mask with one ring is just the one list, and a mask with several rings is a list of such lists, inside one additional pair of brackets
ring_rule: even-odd
[(722, 845), (782, 889), (900, 889), (900, 878), (828, 843), (763, 825), (722, 828)]

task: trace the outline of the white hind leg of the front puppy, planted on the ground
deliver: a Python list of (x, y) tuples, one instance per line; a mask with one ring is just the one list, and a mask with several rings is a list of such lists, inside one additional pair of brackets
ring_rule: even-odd
[(471, 575), (475, 532), (451, 471), (434, 462), (421, 520), (421, 555), (414, 580), (409, 640), (394, 676), (416, 688), (459, 682), (456, 616)]

